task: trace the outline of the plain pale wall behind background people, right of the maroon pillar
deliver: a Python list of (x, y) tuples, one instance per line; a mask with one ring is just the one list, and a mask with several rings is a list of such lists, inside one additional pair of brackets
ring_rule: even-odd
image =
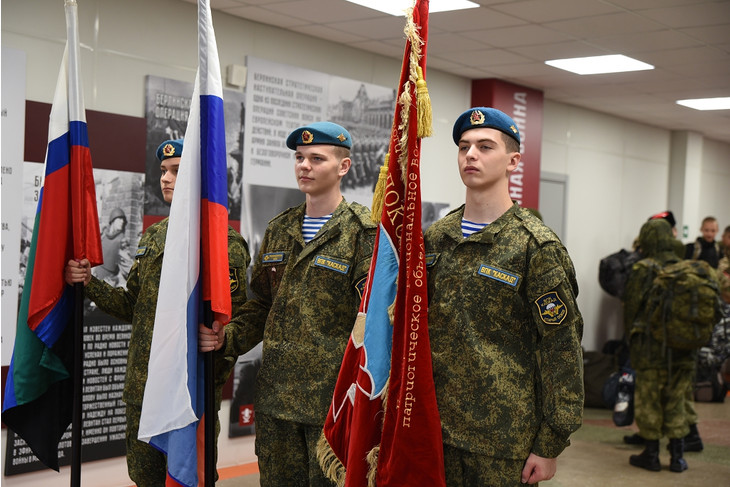
[[(546, 100), (542, 170), (568, 177), (565, 244), (578, 274), (583, 344), (599, 350), (623, 333), (618, 299), (598, 285), (602, 257), (631, 248), (641, 225), (668, 208), (672, 133), (629, 120)], [(687, 161), (696, 182), (685, 198), (698, 209), (685, 215), (690, 234), (714, 215), (730, 225), (730, 145), (702, 140), (701, 160)], [(702, 195), (700, 197), (700, 195)], [(678, 222), (681, 229), (682, 222)]]

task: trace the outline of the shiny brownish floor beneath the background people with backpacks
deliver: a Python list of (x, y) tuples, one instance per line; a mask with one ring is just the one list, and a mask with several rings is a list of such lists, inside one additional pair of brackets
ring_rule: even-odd
[[(649, 472), (629, 465), (629, 456), (641, 447), (623, 443), (623, 436), (636, 431), (635, 426), (617, 427), (607, 409), (586, 409), (583, 426), (572, 437), (571, 446), (558, 458), (558, 472), (542, 487), (687, 487), (730, 485), (730, 398), (724, 403), (696, 403), (700, 417), (698, 429), (704, 450), (685, 454), (689, 469), (681, 474), (669, 471), (666, 439), (661, 442), (661, 472)], [(253, 471), (236, 473), (231, 467), (221, 470), (218, 487), (258, 487), (259, 476)], [(228, 474), (231, 474), (229, 477)]]

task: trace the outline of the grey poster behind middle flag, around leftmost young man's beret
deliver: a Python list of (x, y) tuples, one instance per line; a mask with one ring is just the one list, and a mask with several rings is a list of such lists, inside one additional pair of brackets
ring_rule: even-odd
[[(148, 75), (145, 92), (147, 143), (144, 214), (164, 217), (170, 214), (170, 205), (165, 203), (160, 192), (160, 162), (155, 153), (165, 140), (185, 136), (193, 83)], [(231, 220), (241, 220), (244, 94), (223, 90), (223, 109), (226, 122), (228, 215)]]

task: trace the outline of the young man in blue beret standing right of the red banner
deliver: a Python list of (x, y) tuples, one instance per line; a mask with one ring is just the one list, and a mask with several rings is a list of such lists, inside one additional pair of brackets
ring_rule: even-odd
[[(582, 421), (575, 270), (555, 233), (510, 199), (514, 121), (472, 108), (453, 137), (466, 202), (425, 234), (446, 484), (535, 484), (554, 476)], [(466, 236), (470, 222), (482, 228)]]

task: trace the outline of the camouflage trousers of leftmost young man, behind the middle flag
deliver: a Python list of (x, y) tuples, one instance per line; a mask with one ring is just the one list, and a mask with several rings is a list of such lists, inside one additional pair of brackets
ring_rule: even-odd
[[(139, 487), (164, 487), (167, 477), (167, 457), (144, 441), (137, 439), (139, 430), (139, 418), (142, 408), (127, 404), (127, 471), (129, 478)], [(215, 437), (218, 439), (220, 433), (220, 422), (216, 420)], [(216, 446), (216, 463), (218, 460), (218, 448)], [(218, 480), (218, 472), (215, 472), (215, 479)], [(202, 480), (202, 479), (199, 479)]]

